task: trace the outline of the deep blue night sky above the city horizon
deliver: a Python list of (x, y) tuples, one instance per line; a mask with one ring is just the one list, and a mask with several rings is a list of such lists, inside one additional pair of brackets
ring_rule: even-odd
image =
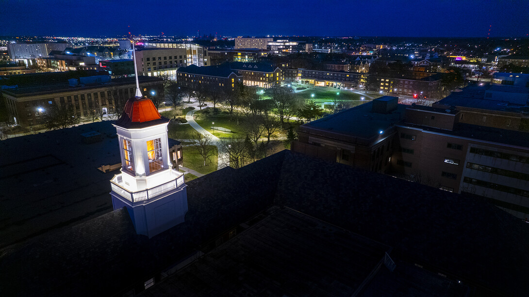
[(0, 35), (527, 36), (527, 0), (0, 0)]

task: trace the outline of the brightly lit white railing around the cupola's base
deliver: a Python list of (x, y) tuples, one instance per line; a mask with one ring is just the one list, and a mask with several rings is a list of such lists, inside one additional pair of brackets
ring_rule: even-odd
[[(176, 171), (177, 172), (177, 171)], [(178, 174), (180, 174), (178, 172)], [(168, 181), (166, 183), (162, 183), (160, 185), (157, 185), (154, 188), (138, 191), (138, 192), (130, 192), (125, 190), (121, 187), (120, 183), (122, 182), (121, 174), (117, 174), (112, 180), (111, 180), (111, 187), (112, 191), (119, 193), (121, 196), (126, 198), (127, 200), (131, 202), (140, 202), (144, 200), (148, 200), (151, 198), (156, 198), (160, 196), (161, 194), (165, 194), (169, 191), (172, 191), (180, 185), (184, 184), (184, 175), (180, 175), (175, 180)]]

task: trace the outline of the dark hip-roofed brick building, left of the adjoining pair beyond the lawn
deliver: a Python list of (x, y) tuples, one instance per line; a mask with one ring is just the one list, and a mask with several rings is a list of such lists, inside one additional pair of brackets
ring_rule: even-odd
[(243, 81), (238, 71), (224, 66), (189, 65), (177, 70), (179, 86), (196, 88), (198, 85), (214, 86), (234, 90), (237, 84)]

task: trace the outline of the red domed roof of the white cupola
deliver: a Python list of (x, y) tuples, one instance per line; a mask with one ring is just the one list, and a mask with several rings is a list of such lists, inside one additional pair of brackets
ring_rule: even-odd
[(132, 97), (125, 103), (123, 115), (115, 124), (124, 128), (143, 128), (167, 122), (169, 119), (160, 115), (151, 99)]

